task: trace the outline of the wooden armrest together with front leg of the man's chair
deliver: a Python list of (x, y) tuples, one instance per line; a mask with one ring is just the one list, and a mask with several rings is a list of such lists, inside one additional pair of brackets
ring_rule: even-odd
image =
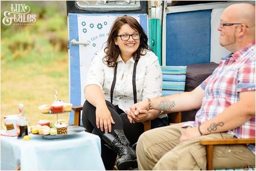
[(203, 139), (203, 140), (200, 140), (200, 144), (206, 146), (206, 160), (207, 160), (206, 167), (207, 167), (207, 170), (212, 170), (214, 145), (255, 144), (255, 139), (254, 138)]

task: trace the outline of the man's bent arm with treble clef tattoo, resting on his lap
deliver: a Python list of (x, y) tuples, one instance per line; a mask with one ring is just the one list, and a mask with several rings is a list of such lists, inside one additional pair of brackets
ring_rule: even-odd
[[(240, 92), (240, 100), (226, 108), (223, 113), (200, 125), (203, 135), (220, 133), (237, 128), (255, 116), (255, 91)], [(200, 136), (198, 128), (187, 128), (180, 141)]]

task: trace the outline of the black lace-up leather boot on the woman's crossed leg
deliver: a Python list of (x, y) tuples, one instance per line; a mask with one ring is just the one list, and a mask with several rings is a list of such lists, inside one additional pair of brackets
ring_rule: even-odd
[(117, 136), (112, 134), (103, 134), (102, 138), (108, 144), (107, 146), (118, 154), (117, 160), (118, 170), (127, 170), (129, 168), (137, 168), (136, 152), (129, 145), (129, 141), (124, 135), (123, 130), (114, 130)]

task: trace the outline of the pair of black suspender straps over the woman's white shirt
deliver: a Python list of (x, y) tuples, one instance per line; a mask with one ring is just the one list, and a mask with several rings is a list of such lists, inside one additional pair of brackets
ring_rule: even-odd
[[(134, 65), (133, 65), (133, 73), (132, 73), (132, 89), (133, 89), (133, 101), (134, 101), (134, 103), (137, 103), (136, 67), (137, 67), (138, 61), (139, 60), (135, 60)], [(110, 90), (110, 100), (111, 100), (111, 103), (113, 103), (113, 92), (114, 92), (115, 81), (116, 80), (117, 80), (117, 65), (115, 65), (114, 78), (113, 78), (113, 82), (112, 82), (111, 90)]]

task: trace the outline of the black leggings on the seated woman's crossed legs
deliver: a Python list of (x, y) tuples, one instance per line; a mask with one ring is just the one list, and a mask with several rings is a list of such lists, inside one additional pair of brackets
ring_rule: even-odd
[[(127, 114), (125, 114), (123, 110), (119, 109), (118, 106), (114, 106), (107, 100), (106, 103), (115, 122), (115, 124), (112, 124), (112, 130), (110, 134), (115, 136), (115, 129), (124, 130), (124, 134), (129, 140), (130, 144), (135, 144), (138, 141), (139, 135), (141, 135), (144, 131), (144, 125), (142, 123), (131, 124), (127, 118)], [(104, 145), (105, 141), (102, 139), (102, 135), (105, 133), (105, 131), (101, 131), (96, 126), (95, 110), (96, 108), (88, 101), (84, 102), (82, 115), (83, 125), (87, 132), (99, 135), (102, 146), (102, 160), (105, 169), (112, 170), (115, 164), (115, 159), (117, 158), (117, 154)], [(166, 126), (167, 124), (167, 120), (155, 119), (152, 121), (151, 126), (152, 128), (156, 128), (160, 126)]]

